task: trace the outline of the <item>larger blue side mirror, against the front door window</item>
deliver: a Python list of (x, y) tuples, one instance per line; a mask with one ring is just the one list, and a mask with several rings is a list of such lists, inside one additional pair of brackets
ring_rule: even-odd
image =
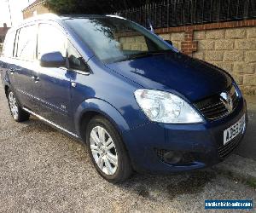
[(40, 65), (43, 67), (61, 67), (66, 66), (66, 60), (60, 52), (52, 52), (41, 56)]

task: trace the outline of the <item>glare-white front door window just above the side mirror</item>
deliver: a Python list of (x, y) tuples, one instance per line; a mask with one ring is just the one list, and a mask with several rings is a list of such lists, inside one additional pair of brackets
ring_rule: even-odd
[(67, 54), (67, 37), (56, 26), (40, 24), (38, 31), (38, 59), (47, 53), (61, 52), (63, 57)]

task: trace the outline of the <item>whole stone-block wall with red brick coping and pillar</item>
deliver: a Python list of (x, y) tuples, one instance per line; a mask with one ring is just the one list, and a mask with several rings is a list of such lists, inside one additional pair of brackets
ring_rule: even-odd
[(177, 49), (223, 68), (242, 92), (256, 95), (256, 20), (161, 28)]

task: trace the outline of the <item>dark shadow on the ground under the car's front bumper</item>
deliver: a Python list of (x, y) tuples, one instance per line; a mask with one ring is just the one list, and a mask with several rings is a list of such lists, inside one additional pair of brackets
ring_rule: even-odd
[(172, 200), (183, 194), (201, 193), (216, 176), (217, 172), (209, 169), (168, 176), (134, 174), (118, 186), (146, 199), (156, 201), (161, 194), (167, 194)]

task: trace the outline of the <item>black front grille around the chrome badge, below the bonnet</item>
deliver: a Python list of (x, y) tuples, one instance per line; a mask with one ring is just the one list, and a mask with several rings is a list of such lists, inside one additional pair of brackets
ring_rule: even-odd
[[(232, 111), (233, 111), (236, 109), (239, 101), (238, 96), (236, 94), (236, 89), (232, 85), (225, 92), (227, 92), (232, 99), (232, 102), (233, 102)], [(209, 120), (215, 120), (230, 114), (230, 111), (228, 110), (227, 107), (225, 107), (220, 94), (213, 95), (210, 98), (196, 102), (195, 107), (197, 107), (200, 110), (200, 112), (203, 114), (203, 116)]]

